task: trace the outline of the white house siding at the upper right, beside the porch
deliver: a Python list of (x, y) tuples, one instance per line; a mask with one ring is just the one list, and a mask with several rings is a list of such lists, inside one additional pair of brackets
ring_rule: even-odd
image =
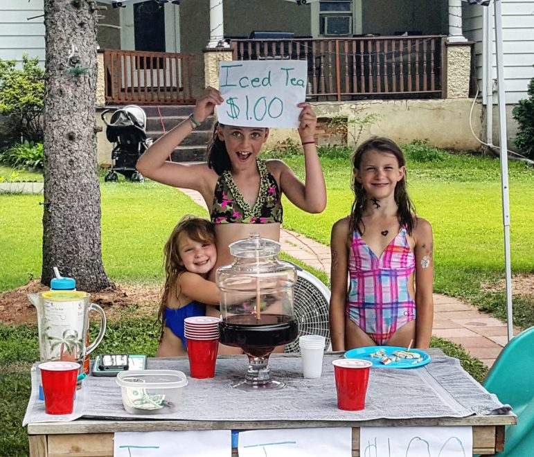
[[(479, 89), (483, 92), (483, 17), (482, 6), (463, 6), (463, 32), (474, 41), (475, 64)], [(526, 98), (526, 88), (534, 78), (534, 1), (502, 0), (502, 36), (506, 104), (516, 104)], [(492, 78), (495, 66), (495, 28), (492, 19)], [(486, 102), (486, 100), (484, 100)]]

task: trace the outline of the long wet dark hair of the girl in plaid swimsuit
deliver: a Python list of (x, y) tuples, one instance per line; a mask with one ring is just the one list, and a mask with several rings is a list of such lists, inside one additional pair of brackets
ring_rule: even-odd
[[(351, 158), (355, 170), (359, 171), (359, 168), (362, 165), (364, 154), (368, 151), (387, 152), (389, 154), (393, 154), (398, 161), (399, 167), (404, 166), (406, 163), (404, 160), (404, 154), (402, 154), (402, 150), (400, 150), (400, 147), (398, 147), (395, 141), (380, 136), (371, 136), (371, 138), (368, 138), (357, 147)], [(406, 172), (404, 172), (404, 176), (395, 186), (394, 197), (395, 203), (398, 206), (399, 224), (401, 227), (406, 228), (407, 232), (411, 235), (414, 226), (413, 215), (416, 213), (416, 208), (413, 206), (413, 203), (408, 196), (407, 187), (408, 183), (406, 179)], [(364, 215), (367, 202), (367, 194), (364, 186), (362, 186), (362, 183), (359, 183), (356, 179), (356, 174), (353, 176), (352, 188), (354, 190), (355, 200), (353, 202), (353, 208), (350, 212), (349, 233), (352, 234), (353, 231), (357, 230), (359, 233), (363, 234), (365, 231), (365, 226), (362, 222), (362, 217)]]

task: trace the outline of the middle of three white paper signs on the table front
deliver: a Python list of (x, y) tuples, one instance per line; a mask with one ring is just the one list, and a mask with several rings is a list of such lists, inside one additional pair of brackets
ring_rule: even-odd
[(239, 433), (239, 457), (350, 457), (352, 429), (276, 429)]

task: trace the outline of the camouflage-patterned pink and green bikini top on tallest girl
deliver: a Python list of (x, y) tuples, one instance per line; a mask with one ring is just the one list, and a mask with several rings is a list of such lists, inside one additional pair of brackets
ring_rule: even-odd
[(260, 172), (260, 191), (256, 204), (251, 208), (235, 186), (231, 173), (222, 172), (215, 192), (211, 208), (213, 224), (271, 224), (282, 222), (282, 195), (276, 179), (267, 171), (265, 161), (256, 160)]

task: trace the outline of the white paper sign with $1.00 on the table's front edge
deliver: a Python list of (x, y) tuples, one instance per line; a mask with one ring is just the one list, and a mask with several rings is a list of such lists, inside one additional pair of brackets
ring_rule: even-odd
[(362, 427), (362, 457), (468, 457), (473, 455), (471, 427)]

